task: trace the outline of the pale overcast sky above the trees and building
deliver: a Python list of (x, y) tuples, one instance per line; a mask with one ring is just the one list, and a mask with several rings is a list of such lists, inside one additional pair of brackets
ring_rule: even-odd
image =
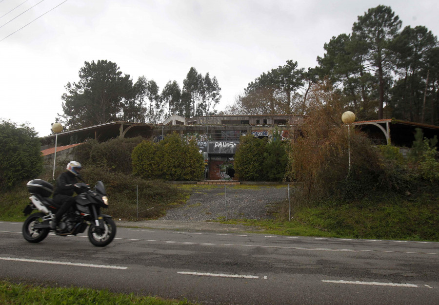
[(437, 0), (0, 0), (0, 119), (49, 135), (84, 62), (115, 62), (136, 82), (180, 88), (189, 69), (216, 76), (217, 110), (289, 59), (315, 67), (332, 37), (390, 6), (402, 28), (439, 35)]

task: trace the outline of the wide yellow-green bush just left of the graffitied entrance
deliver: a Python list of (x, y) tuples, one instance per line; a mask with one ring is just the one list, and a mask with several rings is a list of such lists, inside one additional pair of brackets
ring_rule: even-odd
[(159, 143), (142, 142), (133, 150), (132, 160), (133, 173), (145, 179), (196, 181), (204, 173), (203, 156), (195, 140), (186, 142), (178, 133)]

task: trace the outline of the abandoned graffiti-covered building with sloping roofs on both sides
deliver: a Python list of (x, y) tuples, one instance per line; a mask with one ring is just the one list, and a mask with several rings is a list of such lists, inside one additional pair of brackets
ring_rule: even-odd
[[(116, 121), (58, 133), (57, 146), (61, 152), (64, 147), (71, 150), (71, 145), (79, 144), (87, 138), (106, 141), (118, 136), (142, 136), (160, 141), (167, 134), (177, 132), (182, 137), (197, 139), (198, 148), (207, 164), (206, 180), (236, 180), (227, 172), (233, 168), (234, 155), (241, 135), (251, 133), (259, 138), (270, 138), (273, 131), (278, 129), (282, 139), (294, 138), (300, 133), (304, 119), (302, 115), (211, 115), (189, 119), (172, 115), (156, 125)], [(366, 133), (376, 144), (394, 144), (399, 147), (412, 146), (416, 128), (421, 128), (427, 138), (433, 138), (439, 133), (438, 126), (395, 119), (360, 121), (354, 122), (353, 125)], [(52, 160), (55, 137), (55, 134), (41, 137), (43, 154)], [(64, 154), (68, 155), (68, 152)]]

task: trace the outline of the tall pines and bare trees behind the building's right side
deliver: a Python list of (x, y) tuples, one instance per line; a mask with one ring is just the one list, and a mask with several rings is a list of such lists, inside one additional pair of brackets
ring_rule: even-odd
[(424, 26), (406, 26), (388, 6), (370, 8), (352, 32), (324, 44), (318, 66), (297, 61), (262, 73), (227, 114), (307, 114), (310, 88), (325, 83), (359, 119), (396, 117), (437, 125), (439, 45)]

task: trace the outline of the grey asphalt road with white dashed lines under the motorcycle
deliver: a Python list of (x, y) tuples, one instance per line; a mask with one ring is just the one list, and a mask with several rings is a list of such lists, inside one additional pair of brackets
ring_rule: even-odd
[(26, 242), (0, 223), (0, 278), (202, 304), (438, 304), (439, 243), (118, 228)]

